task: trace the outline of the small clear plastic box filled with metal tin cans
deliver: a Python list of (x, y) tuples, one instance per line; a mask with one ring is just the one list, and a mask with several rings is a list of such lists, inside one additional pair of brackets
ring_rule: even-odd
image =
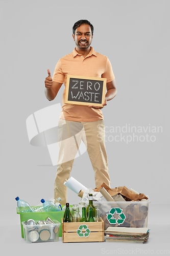
[(27, 243), (59, 241), (59, 228), (61, 223), (53, 220), (54, 224), (27, 225), (22, 221), (24, 240)]

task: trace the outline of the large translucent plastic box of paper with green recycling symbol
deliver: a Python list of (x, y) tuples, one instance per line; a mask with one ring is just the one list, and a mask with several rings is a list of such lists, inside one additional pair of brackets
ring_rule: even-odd
[(108, 227), (148, 227), (150, 201), (93, 202), (99, 205), (100, 216)]

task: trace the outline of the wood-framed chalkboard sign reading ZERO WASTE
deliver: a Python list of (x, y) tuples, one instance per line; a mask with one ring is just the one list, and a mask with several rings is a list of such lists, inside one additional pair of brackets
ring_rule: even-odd
[(65, 103), (103, 106), (106, 78), (67, 75)]

